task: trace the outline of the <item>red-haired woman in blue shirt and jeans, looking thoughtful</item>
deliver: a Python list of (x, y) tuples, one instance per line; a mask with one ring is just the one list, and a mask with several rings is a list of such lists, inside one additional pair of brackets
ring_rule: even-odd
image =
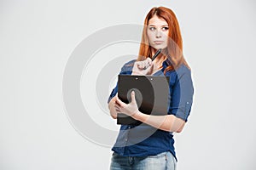
[[(152, 61), (160, 48), (160, 56)], [(143, 125), (121, 125), (112, 149), (110, 169), (176, 169), (172, 133), (182, 132), (188, 120), (194, 88), (189, 65), (183, 58), (177, 18), (171, 9), (159, 7), (149, 11), (137, 61), (126, 63), (120, 74), (170, 77), (169, 107), (165, 116), (148, 115), (138, 110), (134, 92), (131, 92), (131, 103), (125, 104), (118, 98), (117, 87), (113, 89), (108, 99), (111, 116), (115, 119), (119, 113), (125, 113)], [(141, 138), (147, 132), (150, 135)]]

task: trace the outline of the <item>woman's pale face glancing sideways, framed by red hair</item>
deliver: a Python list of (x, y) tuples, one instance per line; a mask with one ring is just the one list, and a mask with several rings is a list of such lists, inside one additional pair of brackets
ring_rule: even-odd
[(166, 48), (169, 26), (163, 18), (154, 16), (148, 20), (147, 35), (149, 45), (155, 49)]

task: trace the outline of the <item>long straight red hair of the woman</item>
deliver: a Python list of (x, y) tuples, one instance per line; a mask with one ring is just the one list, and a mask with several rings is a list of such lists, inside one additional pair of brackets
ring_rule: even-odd
[(166, 71), (172, 71), (177, 69), (182, 64), (186, 65), (189, 68), (189, 65), (183, 57), (183, 39), (181, 36), (181, 31), (177, 22), (176, 15), (170, 8), (165, 7), (154, 7), (148, 12), (144, 20), (143, 37), (140, 44), (140, 50), (137, 60), (144, 60), (147, 57), (152, 58), (153, 48), (150, 47), (150, 44), (148, 42), (147, 28), (148, 21), (154, 15), (166, 20), (169, 26), (167, 47), (161, 52), (161, 57), (164, 57), (166, 59), (168, 58), (171, 62), (171, 65), (167, 66), (165, 73)]

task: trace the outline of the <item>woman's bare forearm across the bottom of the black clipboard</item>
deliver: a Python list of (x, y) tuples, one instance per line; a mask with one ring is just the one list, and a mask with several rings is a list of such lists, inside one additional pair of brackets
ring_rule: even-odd
[(174, 115), (152, 116), (144, 114), (140, 111), (138, 111), (132, 117), (140, 122), (144, 122), (152, 127), (156, 127), (168, 132), (181, 132), (185, 123), (182, 119), (177, 118)]

